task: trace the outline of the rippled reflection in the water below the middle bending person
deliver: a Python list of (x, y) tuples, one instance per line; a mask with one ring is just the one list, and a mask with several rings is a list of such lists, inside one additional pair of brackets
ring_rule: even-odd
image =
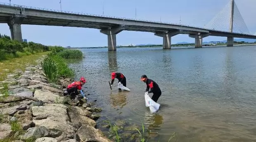
[(110, 94), (111, 104), (115, 109), (123, 108), (127, 104), (127, 95), (125, 92), (117, 92), (114, 94)]

